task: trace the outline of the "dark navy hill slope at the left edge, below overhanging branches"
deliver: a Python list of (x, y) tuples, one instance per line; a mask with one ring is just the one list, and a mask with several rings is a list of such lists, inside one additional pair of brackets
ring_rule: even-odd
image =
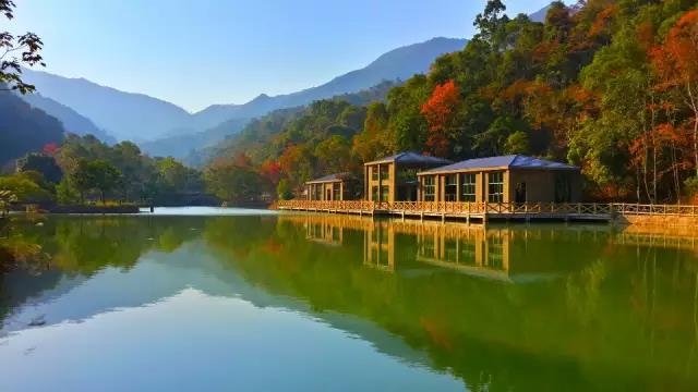
[(0, 164), (63, 139), (63, 125), (14, 93), (0, 91)]

